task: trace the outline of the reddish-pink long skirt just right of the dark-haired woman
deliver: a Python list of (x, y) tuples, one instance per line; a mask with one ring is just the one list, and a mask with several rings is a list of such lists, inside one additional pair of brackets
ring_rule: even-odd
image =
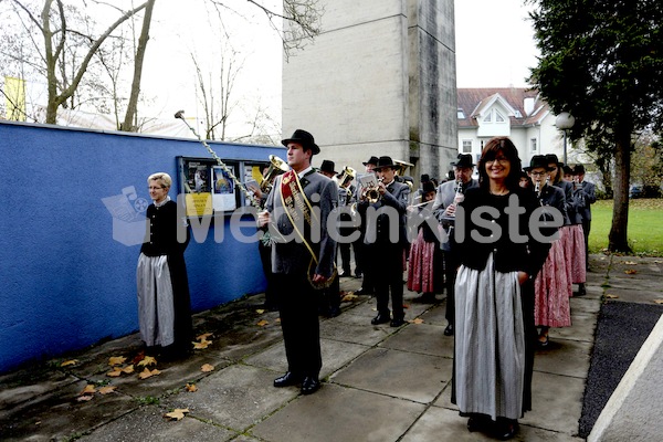
[(569, 327), (571, 305), (561, 239), (555, 241), (534, 281), (534, 323), (546, 327)]

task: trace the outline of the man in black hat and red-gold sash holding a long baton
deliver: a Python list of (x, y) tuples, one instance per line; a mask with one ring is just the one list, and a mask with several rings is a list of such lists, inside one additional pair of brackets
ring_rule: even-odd
[(281, 141), (290, 171), (276, 177), (259, 224), (274, 238), (272, 270), (278, 280), (281, 328), (287, 371), (274, 387), (301, 385), (303, 394), (319, 388), (323, 365), (316, 287), (334, 273), (336, 244), (327, 218), (338, 202), (337, 186), (311, 166), (319, 154), (313, 135), (297, 129)]

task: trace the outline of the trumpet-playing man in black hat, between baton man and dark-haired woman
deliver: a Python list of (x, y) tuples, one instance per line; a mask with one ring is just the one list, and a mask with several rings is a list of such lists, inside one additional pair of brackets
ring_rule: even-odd
[[(410, 187), (396, 180), (397, 166), (391, 157), (378, 158), (375, 170), (379, 178), (376, 189), (379, 197), (377, 201), (369, 201), (367, 189), (365, 189), (358, 203), (358, 211), (367, 221), (366, 257), (372, 261), (376, 270), (375, 287), (378, 315), (372, 318), (371, 324), (390, 323), (392, 327), (400, 327), (404, 324), (403, 253), (406, 244), (408, 244), (406, 213)], [(373, 209), (370, 213), (368, 212), (369, 207)], [(396, 210), (397, 217), (392, 215), (393, 210)], [(392, 232), (396, 234), (391, 234)], [(389, 312), (390, 292), (392, 317)]]

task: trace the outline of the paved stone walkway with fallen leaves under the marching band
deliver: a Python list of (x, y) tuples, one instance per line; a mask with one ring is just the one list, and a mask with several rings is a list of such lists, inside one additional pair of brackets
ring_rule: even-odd
[[(572, 327), (552, 329), (549, 348), (537, 354), (534, 411), (520, 420), (516, 440), (582, 440), (578, 421), (609, 263), (592, 256), (588, 294), (571, 299)], [(341, 288), (357, 290), (359, 282), (343, 278)], [(346, 301), (340, 316), (322, 318), (324, 382), (312, 396), (272, 387), (286, 366), (278, 315), (256, 307), (262, 295), (196, 315), (197, 334), (211, 333), (211, 344), (185, 361), (157, 361), (149, 369), (160, 373), (147, 379), (138, 377), (145, 367), (106, 375), (110, 357), (126, 357), (122, 367), (136, 357), (137, 334), (1, 376), (0, 440), (488, 440), (467, 432), (466, 419), (450, 402), (453, 338), (442, 333), (444, 297), (418, 304), (415, 296), (406, 292), (411, 323), (396, 329), (370, 325), (376, 311), (368, 297)], [(203, 371), (203, 365), (213, 370)], [(90, 385), (96, 391), (81, 400)], [(108, 386), (114, 391), (102, 394)], [(173, 409), (189, 412), (167, 420)]]

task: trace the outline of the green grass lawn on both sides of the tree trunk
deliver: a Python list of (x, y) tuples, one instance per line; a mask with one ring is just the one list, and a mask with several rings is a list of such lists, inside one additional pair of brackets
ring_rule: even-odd
[[(608, 248), (612, 224), (612, 200), (591, 206), (590, 253)], [(635, 254), (663, 256), (663, 198), (633, 199), (629, 202), (629, 244)]]

